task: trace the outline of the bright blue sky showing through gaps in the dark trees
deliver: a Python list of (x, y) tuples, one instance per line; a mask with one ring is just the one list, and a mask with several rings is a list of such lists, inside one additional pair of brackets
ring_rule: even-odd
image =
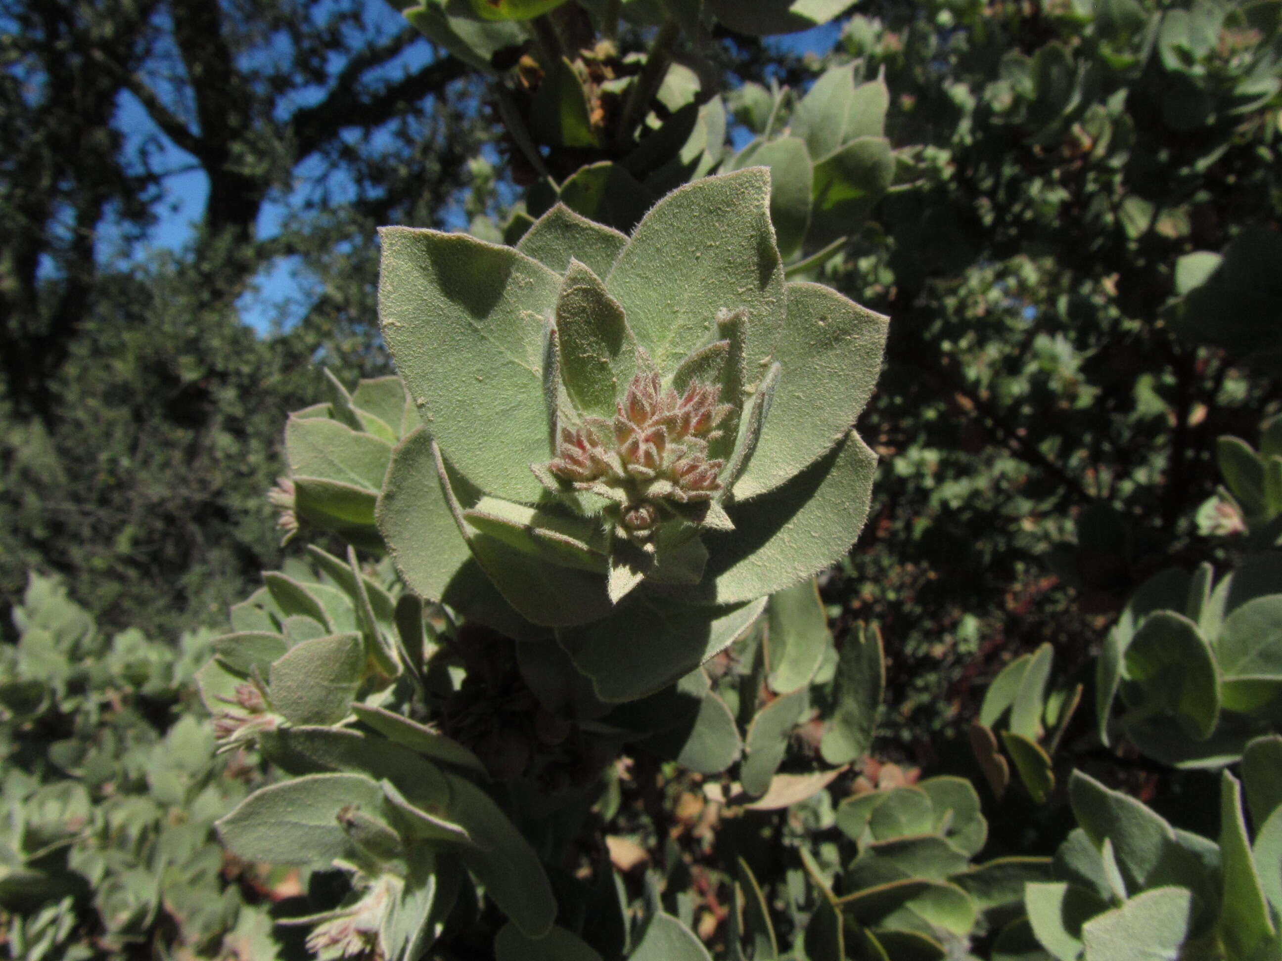
[[(397, 29), (401, 23), (400, 14), (385, 0), (367, 0), (365, 18), (367, 26), (385, 27), (388, 31)], [(840, 33), (841, 24), (835, 22), (803, 33), (776, 37), (768, 44), (781, 51), (826, 54), (837, 42)], [(427, 44), (412, 46), (413, 50), (408, 51), (397, 64), (401, 69), (414, 68), (418, 65), (414, 63), (415, 59), (422, 63), (429, 56)], [(322, 92), (317, 90), (315, 96)], [(208, 179), (188, 154), (160, 133), (142, 105), (129, 94), (121, 96), (117, 123), (129, 146), (140, 147), (149, 144), (154, 169), (168, 172), (163, 179), (163, 193), (155, 206), (155, 224), (140, 247), (119, 252), (126, 254), (128, 260), (145, 260), (156, 250), (181, 251), (192, 240), (194, 227), (200, 219), (209, 193)], [(272, 196), (263, 205), (258, 229), (264, 240), (279, 231), (292, 209), (291, 201), (315, 186), (314, 178), (319, 176), (319, 169), (308, 170), (308, 164), (303, 164), (295, 174), (295, 190), (291, 195)], [(104, 243), (110, 242), (112, 238), (106, 234)], [(268, 333), (277, 324), (288, 325), (300, 318), (315, 296), (313, 288), (314, 282), (305, 275), (296, 258), (277, 258), (259, 273), (253, 288), (241, 297), (238, 302), (241, 315), (245, 323), (262, 333)]]

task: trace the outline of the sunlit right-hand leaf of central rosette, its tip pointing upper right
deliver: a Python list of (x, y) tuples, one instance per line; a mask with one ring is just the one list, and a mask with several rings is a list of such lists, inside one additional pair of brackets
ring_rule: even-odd
[(779, 383), (756, 450), (735, 484), (745, 501), (772, 491), (841, 442), (872, 396), (886, 318), (817, 283), (788, 283), (774, 360)]

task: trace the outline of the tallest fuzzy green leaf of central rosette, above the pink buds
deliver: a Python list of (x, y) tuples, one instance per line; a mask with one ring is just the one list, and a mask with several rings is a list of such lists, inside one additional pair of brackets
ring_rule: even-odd
[(701, 346), (718, 310), (742, 308), (749, 383), (764, 373), (785, 318), (769, 187), (765, 168), (681, 187), (646, 214), (619, 254), (606, 286), (660, 370)]

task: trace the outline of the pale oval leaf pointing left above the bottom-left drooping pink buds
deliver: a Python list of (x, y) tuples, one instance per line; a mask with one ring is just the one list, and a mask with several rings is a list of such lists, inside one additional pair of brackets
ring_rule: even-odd
[(246, 861), (328, 867), (350, 856), (337, 815), (353, 805), (379, 812), (382, 789), (355, 774), (314, 774), (254, 792), (215, 826), (227, 850)]

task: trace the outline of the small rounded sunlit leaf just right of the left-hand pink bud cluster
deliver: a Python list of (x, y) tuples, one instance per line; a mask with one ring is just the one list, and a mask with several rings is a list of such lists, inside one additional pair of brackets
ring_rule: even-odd
[(360, 634), (331, 634), (295, 645), (272, 665), (272, 707), (291, 724), (336, 724), (351, 710), (364, 666)]

